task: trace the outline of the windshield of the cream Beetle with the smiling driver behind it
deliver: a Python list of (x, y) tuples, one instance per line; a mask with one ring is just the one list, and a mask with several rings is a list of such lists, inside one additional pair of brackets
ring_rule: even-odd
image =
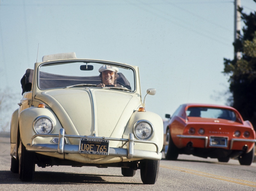
[(110, 72), (113, 75), (114, 84), (106, 84), (103, 88), (135, 91), (135, 71), (132, 67), (91, 60), (49, 62), (41, 65), (39, 67), (38, 87), (42, 90), (73, 87), (102, 88), (97, 87), (103, 83), (100, 77), (100, 68), (105, 70), (105, 73), (114, 71)]

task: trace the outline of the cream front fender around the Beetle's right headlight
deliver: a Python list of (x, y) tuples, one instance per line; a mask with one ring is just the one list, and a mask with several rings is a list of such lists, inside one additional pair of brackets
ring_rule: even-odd
[[(162, 118), (150, 111), (146, 111), (146, 112), (138, 112), (135, 111), (128, 124), (127, 127), (124, 131), (124, 138), (128, 138), (128, 134), (131, 132), (134, 132), (134, 125), (137, 123), (137, 121), (140, 120), (144, 120), (144, 121), (148, 121), (152, 124), (153, 129), (154, 129), (154, 133), (152, 135), (152, 137), (150, 139), (148, 139), (149, 141), (153, 141), (155, 142), (158, 147), (159, 147), (159, 151), (162, 150), (163, 147), (163, 134), (164, 134), (164, 129), (163, 129), (163, 120)], [(151, 146), (149, 147), (148, 144), (136, 144), (134, 145), (135, 149), (139, 149), (139, 150), (150, 150), (150, 151), (155, 151), (155, 147)]]

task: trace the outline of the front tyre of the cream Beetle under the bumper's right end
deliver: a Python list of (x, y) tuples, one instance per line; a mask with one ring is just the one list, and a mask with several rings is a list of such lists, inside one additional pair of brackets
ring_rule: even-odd
[(140, 177), (143, 184), (155, 184), (159, 172), (159, 160), (144, 159), (140, 161)]

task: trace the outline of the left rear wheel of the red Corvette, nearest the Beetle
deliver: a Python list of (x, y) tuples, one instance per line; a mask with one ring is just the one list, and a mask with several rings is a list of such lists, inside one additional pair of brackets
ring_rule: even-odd
[(177, 160), (179, 156), (179, 149), (174, 145), (170, 130), (167, 130), (165, 139), (165, 159)]

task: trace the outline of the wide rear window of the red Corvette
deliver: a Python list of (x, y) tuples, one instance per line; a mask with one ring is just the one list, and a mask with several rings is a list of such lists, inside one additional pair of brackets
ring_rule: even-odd
[(232, 110), (222, 108), (189, 107), (186, 110), (188, 117), (219, 118), (236, 121), (236, 114)]

